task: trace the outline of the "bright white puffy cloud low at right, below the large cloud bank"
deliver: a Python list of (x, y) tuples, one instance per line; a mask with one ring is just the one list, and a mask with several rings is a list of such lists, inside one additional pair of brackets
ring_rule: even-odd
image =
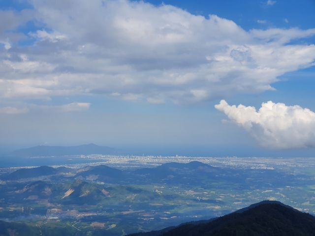
[(264, 147), (315, 147), (315, 113), (308, 108), (268, 101), (262, 103), (257, 111), (253, 106), (229, 105), (224, 100), (215, 107)]

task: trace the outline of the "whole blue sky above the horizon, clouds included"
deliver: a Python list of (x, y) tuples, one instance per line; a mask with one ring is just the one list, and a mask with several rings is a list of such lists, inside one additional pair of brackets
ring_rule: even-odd
[(315, 1), (0, 8), (2, 152), (94, 142), (161, 155), (315, 154)]

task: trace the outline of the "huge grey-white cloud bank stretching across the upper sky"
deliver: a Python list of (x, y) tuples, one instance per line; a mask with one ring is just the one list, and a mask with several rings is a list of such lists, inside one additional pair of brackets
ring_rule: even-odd
[[(41, 28), (24, 37), (35, 42), (16, 48), (13, 36), (0, 38), (11, 47), (0, 46), (2, 99), (104, 94), (192, 103), (273, 90), (279, 76), (314, 65), (315, 45), (291, 41), (315, 29), (245, 31), (216, 15), (143, 1), (30, 3)], [(10, 29), (30, 20), (6, 13)]]

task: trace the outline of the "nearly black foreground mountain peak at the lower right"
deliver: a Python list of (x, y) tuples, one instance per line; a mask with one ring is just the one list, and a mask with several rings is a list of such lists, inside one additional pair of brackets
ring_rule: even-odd
[(277, 201), (263, 201), (231, 214), (130, 236), (315, 236), (315, 217)]

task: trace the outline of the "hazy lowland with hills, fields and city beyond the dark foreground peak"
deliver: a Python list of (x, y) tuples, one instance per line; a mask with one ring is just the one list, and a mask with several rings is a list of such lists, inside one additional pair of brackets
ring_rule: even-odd
[[(26, 159), (42, 163), (48, 158)], [(118, 236), (209, 220), (266, 199), (315, 213), (314, 158), (62, 158), (83, 162), (0, 168), (0, 220), (19, 221), (0, 224), (47, 234)]]

